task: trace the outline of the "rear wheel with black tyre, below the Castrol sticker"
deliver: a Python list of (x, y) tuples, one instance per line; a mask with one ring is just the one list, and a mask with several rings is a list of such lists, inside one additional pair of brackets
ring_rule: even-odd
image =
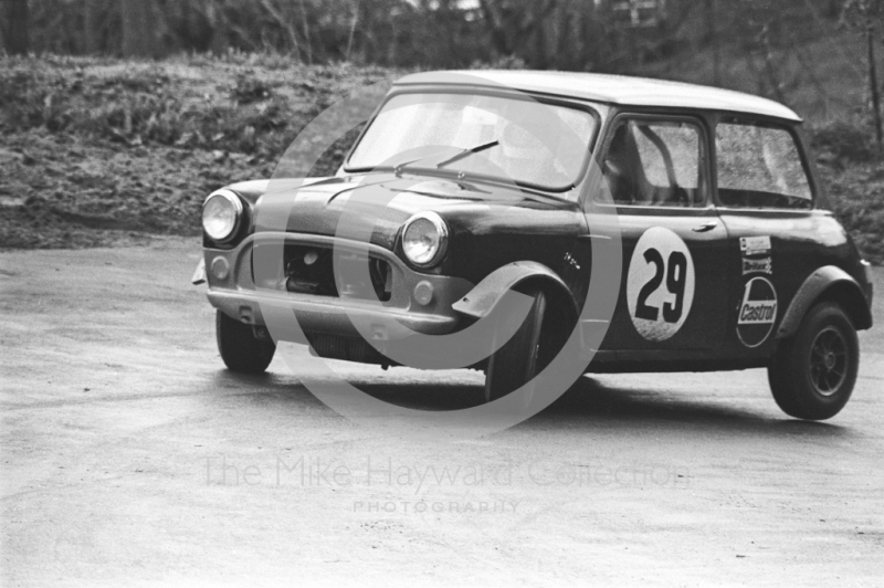
[(824, 420), (848, 403), (860, 368), (856, 329), (838, 304), (818, 304), (768, 367), (774, 399), (790, 417)]

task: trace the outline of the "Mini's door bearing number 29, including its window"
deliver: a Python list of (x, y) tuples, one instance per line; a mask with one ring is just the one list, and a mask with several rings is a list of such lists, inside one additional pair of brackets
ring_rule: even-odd
[(609, 128), (601, 161), (623, 274), (601, 349), (715, 349), (727, 315), (727, 230), (709, 195), (706, 127), (694, 117), (621, 114)]

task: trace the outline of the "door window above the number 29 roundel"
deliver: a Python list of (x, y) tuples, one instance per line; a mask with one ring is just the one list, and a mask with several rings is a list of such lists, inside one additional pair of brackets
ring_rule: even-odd
[(618, 204), (703, 207), (706, 154), (692, 123), (627, 119), (613, 132), (603, 162)]

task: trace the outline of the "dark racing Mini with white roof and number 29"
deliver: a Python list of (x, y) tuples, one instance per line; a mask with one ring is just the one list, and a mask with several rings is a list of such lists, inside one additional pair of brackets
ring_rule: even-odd
[[(485, 372), (480, 402), (575, 346), (581, 372), (766, 368), (800, 419), (833, 417), (853, 390), (869, 264), (778, 103), (600, 74), (412, 74), (335, 176), (296, 183), (204, 201), (194, 282), (231, 370), (264, 371), (288, 338), (322, 358), (420, 367), (385, 353), (397, 328), (418, 349), (485, 324), (499, 328), (477, 330), (484, 353), (460, 366)], [(364, 243), (340, 231), (348, 210), (367, 219)], [(280, 312), (296, 334), (274, 332)]]

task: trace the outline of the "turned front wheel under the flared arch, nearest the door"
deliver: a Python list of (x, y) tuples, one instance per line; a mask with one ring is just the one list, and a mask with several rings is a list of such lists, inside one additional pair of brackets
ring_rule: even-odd
[(543, 291), (526, 294), (534, 298), (528, 316), (513, 337), (488, 358), (485, 370), (486, 402), (519, 389), (540, 371), (540, 334), (547, 297)]

